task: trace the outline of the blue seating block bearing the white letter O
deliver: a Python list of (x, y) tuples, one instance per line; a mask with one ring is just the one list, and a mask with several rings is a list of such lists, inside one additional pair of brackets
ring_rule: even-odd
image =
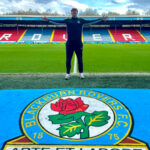
[(48, 28), (29, 28), (20, 40), (20, 42), (49, 42), (52, 35), (52, 29)]

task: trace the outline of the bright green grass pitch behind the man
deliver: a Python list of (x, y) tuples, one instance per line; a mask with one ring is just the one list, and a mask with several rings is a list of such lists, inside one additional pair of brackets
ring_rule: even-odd
[[(0, 73), (61, 73), (65, 57), (64, 44), (1, 44)], [(84, 44), (83, 61), (89, 73), (150, 72), (150, 44)]]

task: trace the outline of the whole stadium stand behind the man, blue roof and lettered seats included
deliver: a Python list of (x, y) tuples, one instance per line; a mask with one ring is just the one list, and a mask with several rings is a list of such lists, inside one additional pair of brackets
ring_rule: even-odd
[[(65, 17), (49, 18), (65, 19)], [(97, 17), (83, 18), (91, 20)], [(108, 17), (107, 21), (83, 28), (82, 39), (85, 43), (150, 42), (150, 17)], [(66, 40), (65, 25), (44, 22), (41, 16), (0, 17), (0, 43), (64, 43)]]

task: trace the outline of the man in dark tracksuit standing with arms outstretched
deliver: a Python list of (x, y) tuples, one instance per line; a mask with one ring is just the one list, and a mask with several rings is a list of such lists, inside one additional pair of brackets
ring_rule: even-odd
[(70, 78), (70, 69), (71, 69), (71, 59), (73, 52), (75, 51), (78, 58), (78, 68), (79, 68), (79, 76), (81, 79), (84, 79), (83, 75), (83, 60), (82, 60), (82, 52), (83, 52), (83, 43), (82, 43), (82, 29), (83, 25), (86, 24), (94, 24), (98, 23), (102, 20), (105, 20), (106, 17), (96, 19), (96, 20), (85, 20), (83, 18), (78, 18), (78, 9), (71, 9), (71, 18), (64, 20), (50, 20), (47, 18), (42, 18), (44, 21), (48, 21), (53, 24), (66, 24), (67, 25), (67, 42), (66, 42), (66, 68), (67, 72), (65, 75), (65, 79), (68, 80)]

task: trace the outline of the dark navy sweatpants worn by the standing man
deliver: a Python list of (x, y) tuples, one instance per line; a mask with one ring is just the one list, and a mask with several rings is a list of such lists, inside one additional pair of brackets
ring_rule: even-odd
[(67, 73), (70, 73), (71, 69), (71, 59), (73, 52), (75, 51), (77, 58), (78, 58), (78, 68), (79, 72), (83, 72), (83, 60), (82, 60), (82, 51), (83, 51), (83, 44), (82, 43), (66, 43), (66, 67)]

